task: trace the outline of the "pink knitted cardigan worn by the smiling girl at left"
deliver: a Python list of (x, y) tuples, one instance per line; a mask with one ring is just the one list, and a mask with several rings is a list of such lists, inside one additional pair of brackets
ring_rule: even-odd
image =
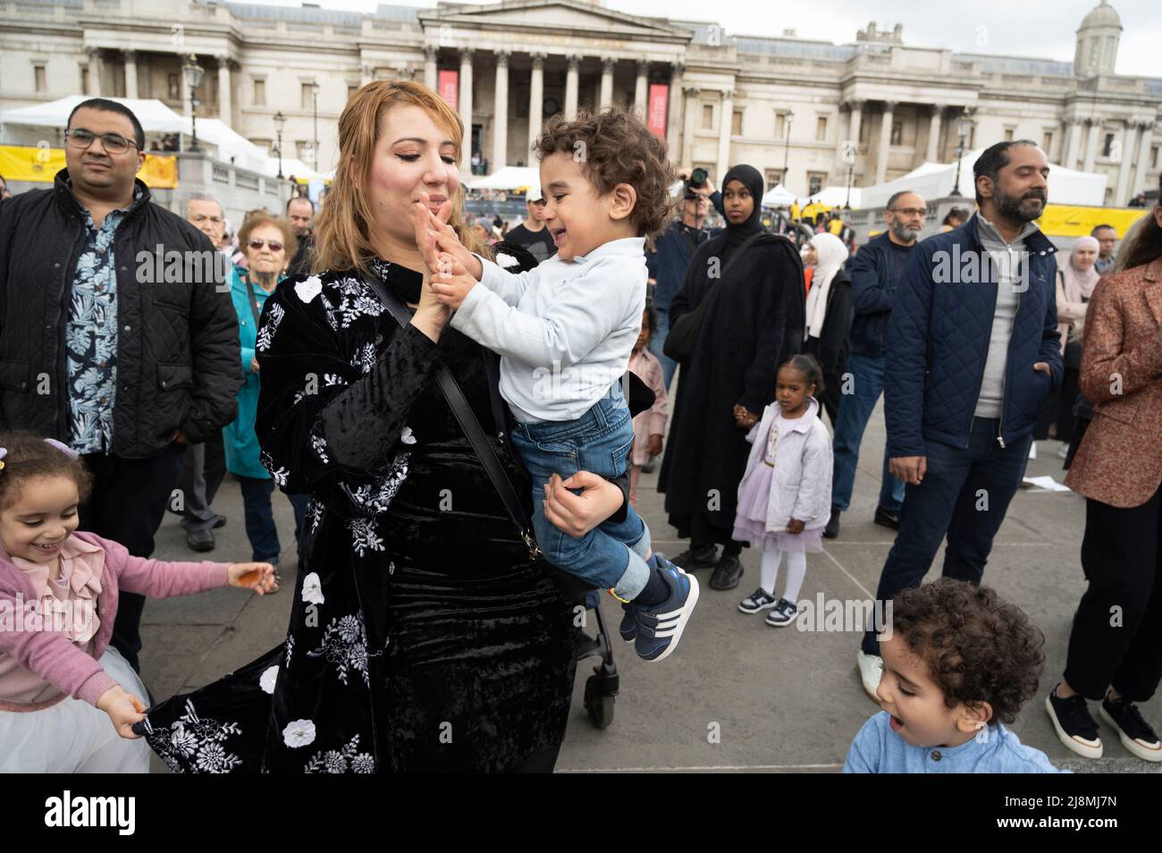
[[(96, 612), (101, 619), (93, 638), (92, 657), (79, 648), (62, 631), (15, 631), (0, 628), (0, 654), (12, 655), (22, 667), (41, 675), (67, 695), (96, 705), (96, 701), (116, 681), (99, 662), (109, 646), (113, 623), (117, 615), (117, 593), (137, 593), (153, 598), (191, 595), (224, 586), (229, 576), (225, 562), (163, 562), (134, 557), (124, 545), (102, 539), (96, 533), (74, 532), (73, 536), (105, 551), (101, 572), (101, 593)], [(36, 589), (24, 573), (0, 547), (0, 602), (15, 612), (23, 602), (38, 598)], [(144, 697), (143, 697), (144, 698)]]

